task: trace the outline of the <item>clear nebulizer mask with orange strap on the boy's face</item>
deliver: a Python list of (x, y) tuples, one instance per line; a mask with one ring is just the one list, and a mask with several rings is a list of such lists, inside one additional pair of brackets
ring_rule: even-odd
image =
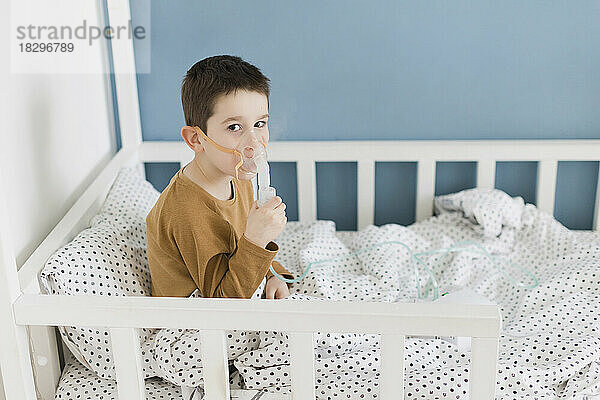
[[(275, 197), (275, 188), (271, 187), (269, 164), (267, 163), (267, 144), (262, 135), (254, 127), (241, 135), (237, 146), (230, 149), (216, 143), (197, 126), (193, 127), (202, 137), (225, 153), (234, 154), (238, 160), (235, 165), (235, 177), (239, 179), (239, 171), (246, 174), (258, 174), (258, 205), (262, 206)], [(260, 129), (259, 129), (260, 130)]]

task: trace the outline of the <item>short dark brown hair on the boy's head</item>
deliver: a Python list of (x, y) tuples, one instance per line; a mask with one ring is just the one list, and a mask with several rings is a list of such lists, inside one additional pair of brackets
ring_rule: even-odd
[[(187, 126), (199, 126), (205, 133), (216, 99), (237, 90), (262, 93), (269, 101), (269, 78), (237, 56), (221, 55), (198, 61), (185, 74), (181, 103)], [(208, 134), (208, 133), (207, 133)]]

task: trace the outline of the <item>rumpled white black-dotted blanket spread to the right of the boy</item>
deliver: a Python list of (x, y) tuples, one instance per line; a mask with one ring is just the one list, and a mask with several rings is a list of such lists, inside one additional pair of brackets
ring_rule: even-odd
[[(336, 233), (331, 221), (288, 223), (277, 240), (276, 259), (296, 276), (311, 262), (338, 258), (314, 266), (293, 285), (292, 295), (279, 301), (414, 301), (416, 278), (405, 249), (349, 253), (392, 240), (415, 252), (477, 241), (539, 280), (534, 289), (519, 287), (473, 252), (449, 255), (434, 270), (441, 289), (468, 287), (501, 307), (497, 398), (583, 399), (600, 392), (600, 234), (570, 231), (535, 206), (496, 192), (446, 198), (436, 204), (439, 216), (409, 227)], [(485, 218), (470, 218), (473, 210)], [(513, 279), (532, 283), (515, 268), (505, 268)], [(421, 275), (422, 285), (426, 279)], [(239, 371), (235, 383), (289, 393), (287, 340), (278, 332), (229, 332), (229, 359)], [(317, 333), (315, 343), (318, 399), (378, 398), (379, 335)], [(202, 384), (199, 354), (196, 330), (165, 329), (156, 336), (156, 370), (175, 384)], [(407, 338), (405, 357), (407, 399), (468, 398), (469, 353), (441, 339)]]

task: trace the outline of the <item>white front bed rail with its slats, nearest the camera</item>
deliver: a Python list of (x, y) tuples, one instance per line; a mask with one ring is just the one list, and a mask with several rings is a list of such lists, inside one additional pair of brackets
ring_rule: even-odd
[(412, 335), (473, 337), (472, 399), (491, 399), (501, 317), (492, 305), (363, 303), (22, 294), (14, 304), (20, 325), (108, 326), (121, 398), (144, 399), (137, 330), (202, 330), (207, 398), (229, 399), (225, 330), (290, 332), (293, 399), (315, 398), (314, 332), (381, 334), (382, 399), (403, 391), (404, 338)]

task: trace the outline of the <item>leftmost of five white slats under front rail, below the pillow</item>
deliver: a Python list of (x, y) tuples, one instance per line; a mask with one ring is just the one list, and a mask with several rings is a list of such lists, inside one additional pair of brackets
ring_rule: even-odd
[(146, 398), (138, 331), (138, 328), (110, 328), (119, 399)]

